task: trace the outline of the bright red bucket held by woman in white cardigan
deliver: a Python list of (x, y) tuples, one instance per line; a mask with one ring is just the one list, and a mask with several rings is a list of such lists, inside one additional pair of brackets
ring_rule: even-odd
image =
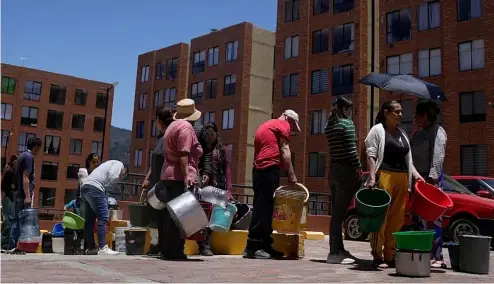
[(453, 201), (441, 189), (432, 184), (417, 181), (411, 207), (415, 215), (429, 222), (435, 222), (446, 210), (453, 207)]

